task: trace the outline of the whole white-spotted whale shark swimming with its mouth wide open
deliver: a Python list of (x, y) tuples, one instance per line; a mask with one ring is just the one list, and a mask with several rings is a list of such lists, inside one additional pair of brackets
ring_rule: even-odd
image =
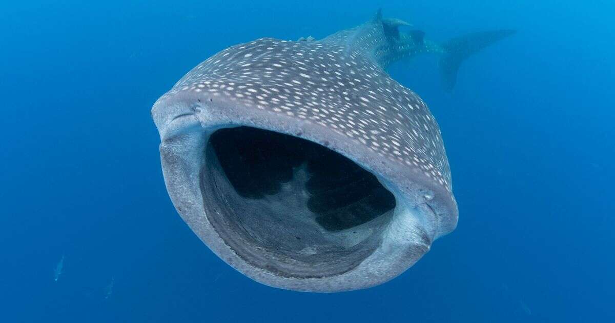
[(154, 103), (167, 191), (213, 253), (262, 284), (341, 292), (399, 276), (456, 228), (440, 128), (386, 68), (440, 54), (450, 89), (514, 31), (435, 44), (408, 25), (379, 11), (319, 40), (231, 46)]

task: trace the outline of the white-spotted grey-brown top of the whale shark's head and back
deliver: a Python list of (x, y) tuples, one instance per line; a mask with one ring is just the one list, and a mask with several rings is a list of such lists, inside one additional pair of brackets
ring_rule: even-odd
[[(451, 192), (442, 135), (427, 105), (384, 68), (391, 52), (378, 22), (322, 41), (261, 38), (200, 63), (159, 100), (197, 92), (334, 129), (384, 158), (420, 169)], [(387, 50), (384, 50), (384, 49)]]

